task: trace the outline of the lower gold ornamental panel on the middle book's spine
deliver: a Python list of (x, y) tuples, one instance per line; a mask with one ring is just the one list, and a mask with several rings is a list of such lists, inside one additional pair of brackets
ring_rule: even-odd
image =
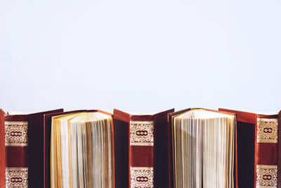
[(131, 167), (131, 188), (152, 188), (153, 168)]

